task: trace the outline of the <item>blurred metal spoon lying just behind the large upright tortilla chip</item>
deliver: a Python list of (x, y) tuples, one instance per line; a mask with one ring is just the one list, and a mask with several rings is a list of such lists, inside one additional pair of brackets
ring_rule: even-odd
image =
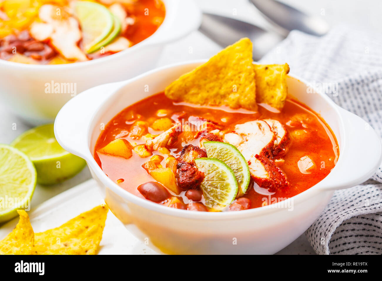
[(253, 43), (253, 60), (255, 61), (285, 38), (244, 21), (208, 13), (203, 13), (199, 31), (222, 47), (227, 47), (240, 38), (248, 37)]

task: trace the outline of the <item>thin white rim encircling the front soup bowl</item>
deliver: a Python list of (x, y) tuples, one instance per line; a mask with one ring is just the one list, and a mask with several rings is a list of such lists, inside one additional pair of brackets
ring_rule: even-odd
[[(139, 76), (136, 76), (130, 80), (120, 82), (121, 84), (119, 84), (117, 88), (113, 89), (110, 96), (108, 96), (108, 98), (105, 99), (104, 104), (107, 103), (110, 99), (113, 99), (115, 94), (119, 93), (120, 90), (122, 90), (123, 88), (125, 88), (129, 84), (131, 84), (137, 80), (140, 80), (142, 78), (145, 78), (146, 76), (149, 76), (153, 73), (160, 73), (162, 71), (168, 70), (169, 68), (174, 68), (174, 67), (179, 67), (179, 66), (191, 65), (191, 64), (196, 64), (196, 63), (201, 64), (201, 63), (204, 63), (206, 61), (207, 61), (206, 59), (203, 59), (203, 60), (192, 60), (192, 61), (187, 61), (187, 62), (174, 63), (171, 65), (167, 65), (164, 67), (160, 67), (160, 68), (156, 68), (154, 70), (148, 71), (148, 72), (143, 73)], [(161, 76), (161, 75), (159, 75), (159, 76)], [(303, 79), (301, 79), (295, 75), (288, 75), (288, 76), (290, 76), (291, 78), (303, 83), (305, 86), (308, 86), (308, 83), (306, 81), (304, 81)], [(162, 77), (163, 77), (163, 75), (162, 75)], [(335, 112), (335, 114), (337, 115), (337, 123), (338, 123), (338, 127), (340, 129), (340, 135), (342, 138), (341, 141), (343, 141), (346, 133), (345, 133), (345, 129), (344, 129), (345, 125), (343, 123), (342, 115), (340, 114), (340, 111), (338, 110), (339, 107), (327, 95), (323, 94), (320, 89), (316, 89), (316, 92), (317, 92), (317, 94), (319, 94), (319, 96), (321, 98), (323, 98), (325, 100), (327, 105), (330, 107), (330, 110)], [(92, 170), (92, 172), (94, 172), (95, 176), (102, 182), (102, 184), (105, 185), (105, 187), (109, 188), (113, 193), (117, 194), (118, 196), (121, 196), (125, 200), (128, 200), (131, 203), (139, 205), (142, 208), (146, 208), (146, 209), (149, 209), (151, 211), (166, 214), (169, 216), (176, 216), (176, 217), (187, 218), (187, 219), (202, 219), (202, 220), (242, 219), (242, 218), (253, 217), (253, 216), (261, 216), (263, 214), (269, 214), (269, 213), (273, 213), (275, 211), (280, 211), (280, 210), (288, 211), (287, 208), (282, 208), (282, 207), (280, 207), (280, 205), (289, 206), (289, 204), (292, 203), (292, 204), (295, 204), (295, 205), (293, 205), (293, 208), (294, 208), (294, 206), (301, 204), (301, 203), (304, 203), (304, 198), (309, 199), (312, 196), (314, 196), (315, 194), (333, 193), (334, 192), (334, 190), (320, 189), (319, 187), (317, 187), (317, 185), (319, 185), (330, 174), (332, 174), (333, 172), (336, 171), (336, 167), (338, 167), (338, 161), (340, 160), (340, 156), (342, 155), (343, 146), (340, 148), (340, 153), (339, 153), (337, 164), (335, 165), (335, 167), (332, 169), (332, 171), (330, 171), (330, 173), (324, 179), (322, 179), (316, 185), (313, 185), (312, 187), (308, 188), (307, 190), (304, 190), (303, 192), (301, 192), (301, 193), (299, 193), (293, 197), (290, 197), (286, 200), (279, 201), (279, 202), (274, 203), (274, 204), (262, 206), (259, 208), (241, 210), (239, 212), (237, 212), (237, 211), (232, 211), (232, 212), (230, 212), (230, 211), (226, 211), (226, 212), (198, 212), (198, 211), (189, 211), (189, 210), (169, 208), (167, 206), (159, 205), (158, 203), (149, 201), (149, 200), (144, 199), (144, 198), (140, 198), (140, 197), (128, 192), (127, 190), (121, 188), (119, 185), (114, 183), (109, 177), (107, 177), (105, 172), (102, 171), (102, 169), (99, 167), (97, 162), (95, 162), (95, 159), (92, 156), (92, 152), (90, 150), (90, 138), (91, 138), (92, 132), (94, 130), (93, 123), (95, 122), (97, 116), (99, 116), (99, 112), (103, 108), (104, 108), (103, 104), (101, 104), (99, 107), (94, 109), (94, 111), (93, 111), (94, 113), (92, 114), (92, 117), (91, 117), (89, 123), (87, 124), (87, 132), (86, 132), (86, 148), (87, 148), (87, 151), (85, 153), (82, 153), (82, 154), (84, 156), (86, 156), (86, 161), (87, 161), (89, 168)], [(338, 139), (337, 136), (336, 136), (336, 138)]]

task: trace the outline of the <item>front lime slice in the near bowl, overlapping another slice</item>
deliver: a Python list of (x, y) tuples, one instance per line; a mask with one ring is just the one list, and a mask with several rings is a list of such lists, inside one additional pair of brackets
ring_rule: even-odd
[(206, 206), (220, 211), (231, 204), (238, 192), (238, 183), (231, 168), (214, 158), (197, 158), (195, 164), (204, 173), (200, 186)]

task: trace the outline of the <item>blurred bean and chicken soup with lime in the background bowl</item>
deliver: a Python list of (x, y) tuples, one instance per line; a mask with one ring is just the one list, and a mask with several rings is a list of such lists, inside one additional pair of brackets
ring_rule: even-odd
[(160, 0), (5, 0), (0, 58), (50, 65), (100, 58), (151, 36), (164, 17)]

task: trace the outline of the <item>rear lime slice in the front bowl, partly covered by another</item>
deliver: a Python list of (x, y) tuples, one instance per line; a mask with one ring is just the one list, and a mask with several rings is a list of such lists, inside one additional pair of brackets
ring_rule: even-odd
[(240, 192), (244, 194), (251, 181), (251, 174), (243, 154), (235, 146), (221, 141), (205, 141), (203, 145), (209, 158), (219, 159), (232, 169)]

